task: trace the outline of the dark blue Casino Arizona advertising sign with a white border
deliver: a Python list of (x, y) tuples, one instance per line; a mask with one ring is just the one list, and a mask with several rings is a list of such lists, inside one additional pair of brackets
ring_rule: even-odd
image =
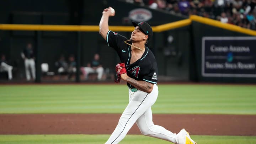
[(202, 76), (256, 77), (256, 37), (203, 37)]

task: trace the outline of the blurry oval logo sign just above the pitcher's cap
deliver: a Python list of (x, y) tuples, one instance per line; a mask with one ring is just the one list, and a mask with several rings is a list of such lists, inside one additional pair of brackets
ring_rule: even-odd
[(136, 22), (148, 21), (152, 18), (152, 13), (147, 9), (133, 9), (129, 12), (129, 18)]

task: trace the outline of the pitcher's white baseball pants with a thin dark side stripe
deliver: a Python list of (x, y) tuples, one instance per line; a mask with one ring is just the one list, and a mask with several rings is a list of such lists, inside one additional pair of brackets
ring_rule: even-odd
[(177, 143), (175, 133), (153, 123), (151, 106), (155, 103), (157, 97), (158, 86), (156, 84), (154, 84), (153, 91), (150, 94), (140, 90), (132, 92), (129, 89), (129, 104), (120, 117), (116, 129), (105, 144), (119, 143), (135, 122), (143, 135)]

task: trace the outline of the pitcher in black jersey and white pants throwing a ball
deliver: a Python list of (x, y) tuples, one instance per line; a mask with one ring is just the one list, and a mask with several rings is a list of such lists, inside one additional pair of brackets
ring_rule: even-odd
[(108, 46), (117, 52), (121, 60), (121, 63), (116, 65), (116, 82), (127, 82), (129, 104), (105, 144), (119, 143), (134, 123), (143, 135), (175, 144), (196, 144), (185, 129), (175, 134), (153, 123), (151, 106), (158, 97), (158, 68), (153, 53), (145, 46), (153, 36), (151, 26), (146, 22), (133, 22), (134, 30), (130, 39), (127, 39), (108, 29), (108, 19), (114, 15), (112, 7), (103, 10), (100, 35), (107, 41)]

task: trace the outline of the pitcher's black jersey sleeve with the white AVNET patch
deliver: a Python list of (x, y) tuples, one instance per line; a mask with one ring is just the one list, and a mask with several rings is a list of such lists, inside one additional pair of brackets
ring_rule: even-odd
[(157, 84), (158, 81), (158, 68), (156, 62), (153, 62), (151, 69), (148, 74), (144, 75), (144, 81), (150, 82), (152, 84)]

